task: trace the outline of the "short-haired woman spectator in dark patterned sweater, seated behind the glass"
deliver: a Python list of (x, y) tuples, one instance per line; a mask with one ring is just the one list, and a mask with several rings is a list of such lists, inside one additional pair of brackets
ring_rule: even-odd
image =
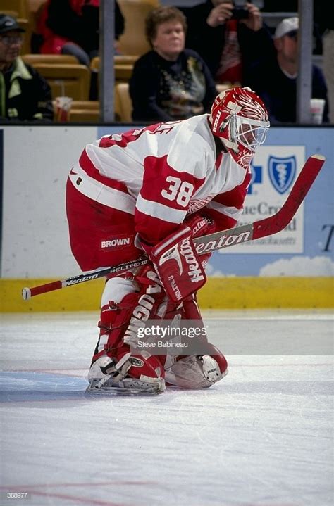
[(211, 108), (216, 86), (202, 58), (185, 49), (186, 30), (178, 8), (158, 7), (147, 16), (152, 50), (136, 61), (130, 79), (133, 120), (183, 120)]

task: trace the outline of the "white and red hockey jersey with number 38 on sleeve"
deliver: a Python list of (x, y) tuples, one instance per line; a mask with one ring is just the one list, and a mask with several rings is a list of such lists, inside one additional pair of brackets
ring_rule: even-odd
[(148, 243), (161, 241), (197, 211), (212, 217), (218, 229), (233, 227), (242, 213), (252, 158), (249, 151), (223, 151), (208, 118), (101, 137), (87, 144), (70, 180), (94, 201), (133, 214), (137, 233)]

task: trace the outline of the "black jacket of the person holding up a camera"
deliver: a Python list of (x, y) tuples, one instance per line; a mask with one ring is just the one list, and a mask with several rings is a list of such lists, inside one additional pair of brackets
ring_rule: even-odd
[[(185, 45), (197, 51), (215, 77), (221, 61), (225, 44), (225, 25), (212, 28), (206, 23), (209, 13), (214, 8), (211, 0), (190, 8), (182, 8), (187, 18), (187, 38)], [(264, 25), (254, 32), (243, 23), (238, 23), (237, 38), (242, 57), (242, 85), (247, 86), (250, 68), (257, 61), (274, 55), (271, 33)]]

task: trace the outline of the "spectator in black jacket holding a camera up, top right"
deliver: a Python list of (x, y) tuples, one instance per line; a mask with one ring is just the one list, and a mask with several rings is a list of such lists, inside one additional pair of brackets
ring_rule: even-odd
[(186, 46), (197, 51), (217, 83), (247, 85), (249, 67), (272, 50), (271, 33), (259, 8), (250, 2), (235, 9), (233, 0), (206, 0), (183, 8), (187, 17)]

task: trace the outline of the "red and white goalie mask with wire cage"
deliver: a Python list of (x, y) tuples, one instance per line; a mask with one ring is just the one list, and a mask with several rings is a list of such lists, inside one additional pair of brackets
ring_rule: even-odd
[(216, 96), (209, 116), (211, 130), (235, 153), (256, 151), (270, 127), (266, 106), (250, 88), (232, 88)]

